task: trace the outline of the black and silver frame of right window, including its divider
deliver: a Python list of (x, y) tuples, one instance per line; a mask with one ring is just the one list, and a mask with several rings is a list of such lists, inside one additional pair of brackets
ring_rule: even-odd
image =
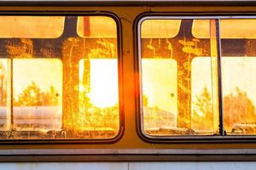
[[(142, 47), (141, 47), (141, 27), (144, 20), (183, 20), (183, 19), (201, 19), (201, 20), (216, 20), (216, 38), (217, 38), (217, 60), (218, 60), (218, 114), (219, 114), (219, 131), (218, 135), (170, 135), (170, 136), (153, 136), (148, 135), (143, 129), (143, 86), (142, 86)], [(251, 143), (256, 141), (256, 134), (254, 135), (226, 135), (224, 133), (224, 115), (223, 115), (223, 96), (222, 96), (222, 75), (221, 75), (221, 39), (219, 36), (218, 22), (222, 19), (255, 19), (255, 15), (245, 14), (176, 14), (176, 13), (144, 13), (140, 14), (135, 20), (135, 66), (138, 75), (135, 80), (136, 96), (136, 111), (137, 111), (137, 133), (143, 141), (156, 144), (168, 143)]]

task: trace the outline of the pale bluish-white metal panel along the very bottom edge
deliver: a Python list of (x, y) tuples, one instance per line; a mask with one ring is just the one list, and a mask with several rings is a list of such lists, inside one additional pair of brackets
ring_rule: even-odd
[(6, 170), (254, 170), (256, 162), (3, 163)]

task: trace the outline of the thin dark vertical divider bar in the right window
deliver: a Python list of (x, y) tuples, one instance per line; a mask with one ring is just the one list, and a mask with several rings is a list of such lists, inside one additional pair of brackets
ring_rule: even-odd
[(218, 129), (221, 136), (225, 135), (224, 132), (224, 115), (223, 115), (223, 102), (222, 102), (222, 75), (221, 75), (221, 40), (219, 33), (219, 19), (216, 19), (216, 38), (217, 38), (217, 59), (218, 59), (218, 113), (219, 123)]

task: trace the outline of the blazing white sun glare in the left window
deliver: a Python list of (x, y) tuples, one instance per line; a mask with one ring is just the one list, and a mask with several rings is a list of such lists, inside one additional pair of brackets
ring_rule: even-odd
[(84, 60), (79, 62), (79, 82), (82, 83), (79, 84), (79, 91), (85, 90), (83, 78), (90, 77), (90, 102), (101, 108), (116, 105), (119, 98), (117, 59), (87, 59), (90, 71), (84, 71)]

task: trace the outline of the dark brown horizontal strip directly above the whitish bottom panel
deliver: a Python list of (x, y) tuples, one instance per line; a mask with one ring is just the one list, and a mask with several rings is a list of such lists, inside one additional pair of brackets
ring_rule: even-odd
[(256, 156), (163, 156), (163, 155), (108, 155), (108, 156), (0, 156), (0, 162), (137, 162), (137, 161), (256, 161)]

